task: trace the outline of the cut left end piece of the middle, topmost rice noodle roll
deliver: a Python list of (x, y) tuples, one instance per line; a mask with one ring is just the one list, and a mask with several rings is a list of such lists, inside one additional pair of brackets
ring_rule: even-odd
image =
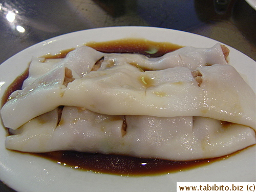
[[(14, 126), (17, 129), (34, 117), (49, 112), (47, 108), (51, 108), (53, 103), (59, 102), (58, 98), (66, 88), (63, 86), (64, 79), (65, 66), (60, 66), (54, 68), (51, 73), (36, 79), (23, 90), (13, 92), (9, 97), (11, 102), (8, 101), (2, 108), (2, 110), (6, 108), (7, 113), (2, 113), (1, 110), (2, 118), (7, 119), (7, 121), (4, 120), (5, 125), (7, 127)], [(17, 108), (9, 107), (12, 104), (15, 104)], [(45, 105), (45, 109), (41, 108), (40, 105)], [(29, 111), (25, 113), (23, 109)], [(16, 114), (16, 110), (19, 110), (19, 115)]]

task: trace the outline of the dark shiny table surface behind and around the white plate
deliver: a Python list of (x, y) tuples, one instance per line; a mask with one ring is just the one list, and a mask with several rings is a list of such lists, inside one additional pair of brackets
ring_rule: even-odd
[[(0, 63), (51, 37), (110, 26), (195, 33), (256, 60), (255, 9), (245, 0), (0, 0)], [(14, 190), (1, 182), (0, 191)]]

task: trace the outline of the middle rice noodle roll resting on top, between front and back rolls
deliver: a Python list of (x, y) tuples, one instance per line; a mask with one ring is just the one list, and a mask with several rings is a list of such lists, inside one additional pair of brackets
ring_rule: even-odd
[(127, 64), (91, 72), (67, 88), (35, 82), (32, 91), (9, 100), (1, 114), (12, 129), (59, 105), (107, 115), (203, 116), (255, 129), (255, 94), (239, 73), (228, 65), (197, 70), (203, 75), (200, 87), (188, 68), (141, 72)]

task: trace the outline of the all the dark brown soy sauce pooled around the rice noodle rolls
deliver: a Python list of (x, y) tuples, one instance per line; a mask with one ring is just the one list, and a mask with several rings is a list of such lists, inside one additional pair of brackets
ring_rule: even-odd
[[(165, 53), (172, 52), (182, 47), (169, 42), (153, 42), (144, 39), (120, 39), (106, 42), (88, 42), (86, 46), (90, 46), (98, 51), (107, 53), (141, 53), (149, 57), (162, 56)], [(46, 55), (44, 57), (63, 58), (72, 50), (73, 49), (61, 51), (57, 55)], [(28, 71), (19, 76), (12, 83), (2, 98), (2, 103), (7, 101), (9, 95), (13, 91), (21, 88), (22, 83), (27, 76)], [(227, 155), (219, 158), (195, 161), (167, 161), (161, 159), (141, 159), (130, 156), (90, 154), (73, 151), (35, 153), (33, 155), (44, 157), (59, 165), (75, 169), (122, 176), (146, 176), (174, 173), (206, 165), (217, 160), (226, 159), (230, 156)]]

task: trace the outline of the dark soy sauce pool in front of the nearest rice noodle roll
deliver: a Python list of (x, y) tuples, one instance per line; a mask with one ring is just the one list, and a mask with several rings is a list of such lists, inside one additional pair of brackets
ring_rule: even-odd
[(80, 153), (74, 151), (59, 151), (35, 155), (53, 160), (59, 165), (75, 169), (91, 170), (95, 173), (121, 176), (152, 176), (175, 173), (207, 165), (218, 160), (226, 159), (230, 156), (227, 155), (218, 158), (194, 161), (168, 161), (121, 155)]

